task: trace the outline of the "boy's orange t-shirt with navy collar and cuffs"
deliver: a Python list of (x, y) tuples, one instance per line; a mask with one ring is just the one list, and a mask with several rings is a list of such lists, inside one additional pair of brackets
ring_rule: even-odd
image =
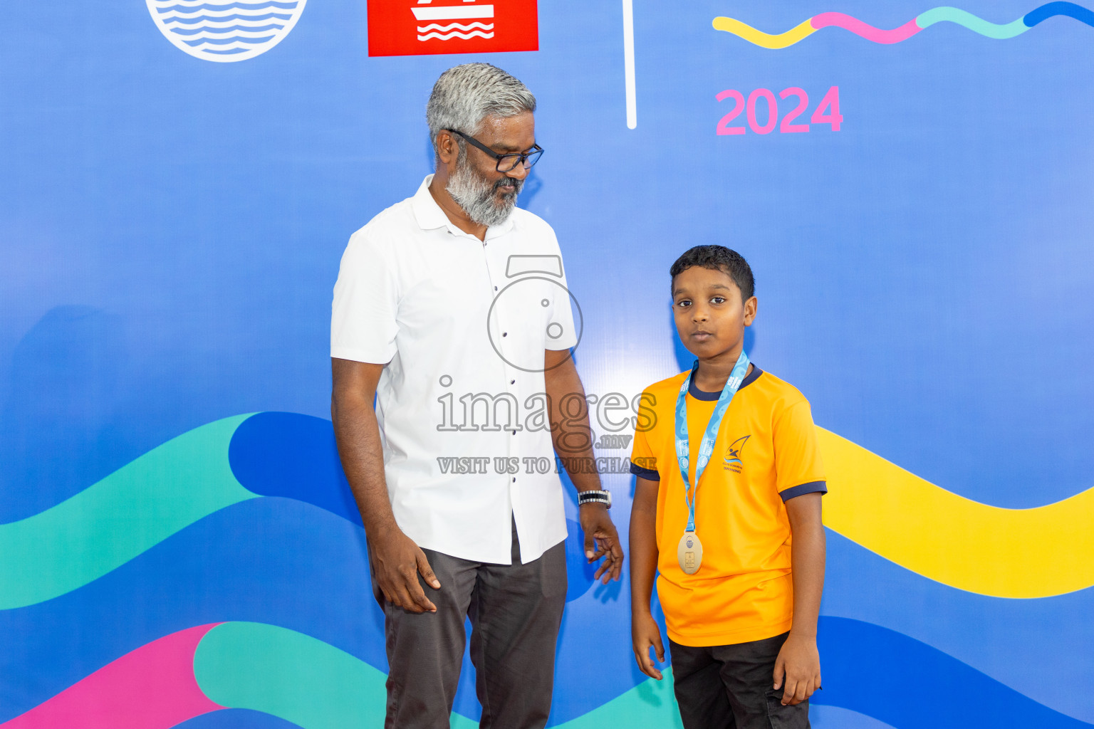
[[(660, 481), (657, 597), (668, 637), (685, 646), (769, 638), (790, 630), (790, 520), (784, 502), (827, 492), (808, 401), (792, 385), (753, 365), (725, 411), (714, 452), (696, 497), (702, 563), (680, 569), (676, 550), (687, 527), (684, 480), (676, 461), (676, 397), (687, 377), (642, 393), (631, 472)], [(690, 452), (710, 422), (720, 392), (687, 395)], [(695, 483), (695, 458), (688, 478)]]

